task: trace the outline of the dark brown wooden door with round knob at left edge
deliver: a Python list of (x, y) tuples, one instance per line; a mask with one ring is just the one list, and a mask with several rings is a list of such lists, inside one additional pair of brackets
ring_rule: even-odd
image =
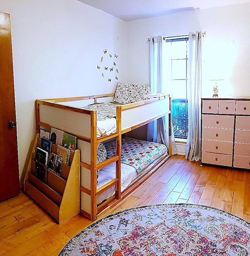
[(20, 192), (10, 15), (0, 13), (0, 201)]

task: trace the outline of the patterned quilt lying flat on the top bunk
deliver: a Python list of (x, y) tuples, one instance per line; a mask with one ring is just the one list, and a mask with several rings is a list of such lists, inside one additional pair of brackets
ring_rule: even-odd
[(91, 110), (91, 111), (96, 110), (96, 119), (104, 120), (106, 118), (116, 117), (116, 107), (121, 105), (122, 104), (117, 104), (113, 102), (103, 102), (103, 103), (90, 104), (85, 107), (82, 107), (82, 109)]

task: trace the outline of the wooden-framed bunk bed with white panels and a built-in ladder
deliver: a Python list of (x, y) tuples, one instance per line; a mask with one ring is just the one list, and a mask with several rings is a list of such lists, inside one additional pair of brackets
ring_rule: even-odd
[[(170, 123), (170, 96), (162, 94), (127, 104), (114, 103), (114, 97), (115, 94), (102, 94), (36, 100), (37, 133), (41, 128), (50, 130), (55, 127), (77, 136), (77, 149), (80, 150), (80, 213), (93, 221), (134, 191), (171, 155), (171, 146), (167, 152), (161, 149), (162, 155), (159, 159), (152, 161), (151, 165), (140, 173), (131, 171), (132, 167), (121, 162), (123, 138), (129, 131), (163, 116), (168, 116)], [(91, 110), (91, 107), (100, 104), (105, 107), (113, 105), (114, 116), (98, 117), (98, 111)], [(168, 132), (171, 145), (170, 126)], [(115, 148), (113, 154), (98, 162), (99, 145), (107, 145), (110, 142)], [(109, 167), (112, 173), (107, 178), (104, 170)], [(130, 181), (123, 175), (127, 167), (133, 173)], [(104, 183), (103, 178), (107, 178)], [(122, 180), (127, 184), (124, 185)]]

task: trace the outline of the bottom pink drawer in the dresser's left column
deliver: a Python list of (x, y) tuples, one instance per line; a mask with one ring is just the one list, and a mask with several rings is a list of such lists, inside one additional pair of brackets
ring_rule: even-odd
[(202, 151), (202, 163), (232, 166), (232, 155), (217, 154)]

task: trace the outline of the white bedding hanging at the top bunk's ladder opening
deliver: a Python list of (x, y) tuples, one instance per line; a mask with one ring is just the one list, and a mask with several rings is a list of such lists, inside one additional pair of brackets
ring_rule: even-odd
[(116, 118), (106, 118), (96, 121), (96, 137), (108, 136), (116, 132)]

